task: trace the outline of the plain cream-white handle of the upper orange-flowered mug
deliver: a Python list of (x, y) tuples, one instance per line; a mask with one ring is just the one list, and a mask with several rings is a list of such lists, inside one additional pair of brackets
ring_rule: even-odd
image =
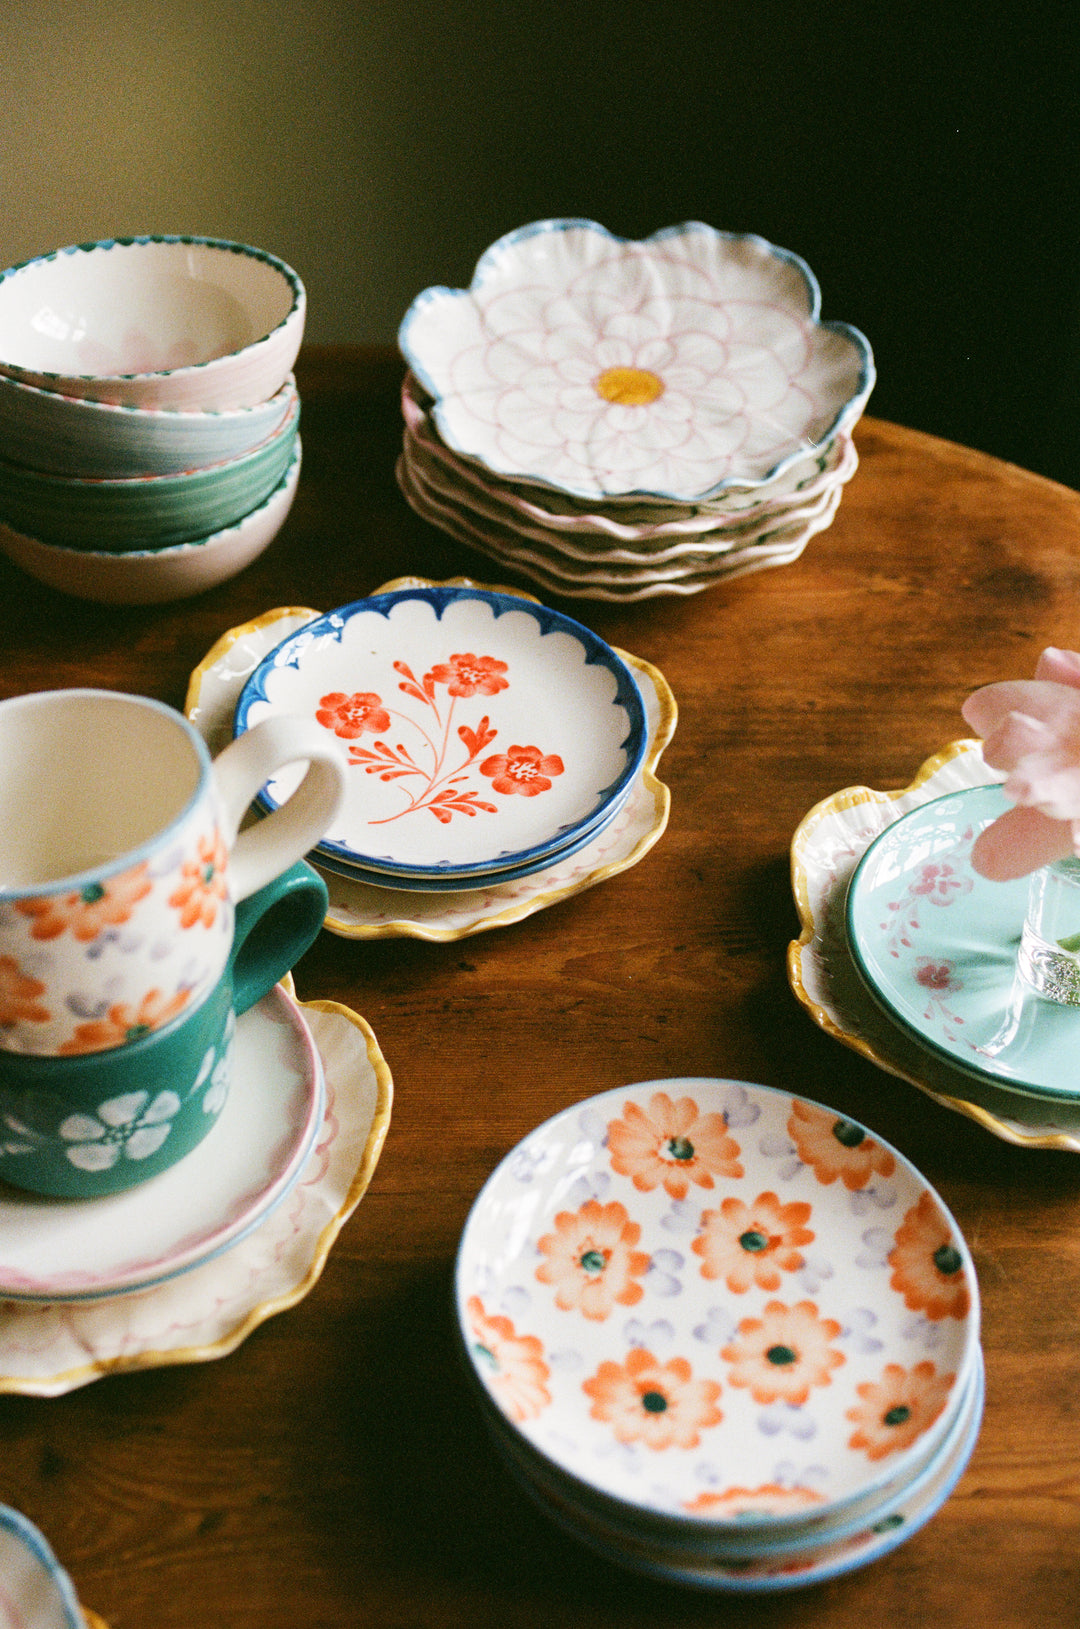
[[(280, 808), (239, 831), (262, 787), (288, 764), (308, 769)], [(287, 872), (326, 836), (345, 797), (345, 757), (332, 735), (310, 718), (262, 718), (213, 759), (222, 801), (230, 886), (241, 901)]]

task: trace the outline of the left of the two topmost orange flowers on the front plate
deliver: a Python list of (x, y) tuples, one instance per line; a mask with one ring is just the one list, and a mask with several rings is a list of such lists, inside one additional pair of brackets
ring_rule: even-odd
[(723, 1114), (699, 1114), (692, 1098), (671, 1101), (666, 1091), (655, 1091), (648, 1109), (624, 1106), (608, 1126), (608, 1152), (619, 1176), (643, 1194), (663, 1184), (673, 1199), (686, 1199), (691, 1183), (713, 1188), (713, 1176), (743, 1175)]

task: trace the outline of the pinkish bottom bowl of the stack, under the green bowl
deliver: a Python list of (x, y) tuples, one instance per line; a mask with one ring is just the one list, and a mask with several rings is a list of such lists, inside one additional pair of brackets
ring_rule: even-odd
[(28, 577), (77, 599), (103, 604), (165, 604), (228, 582), (267, 549), (285, 523), (300, 481), (300, 437), (293, 458), (270, 495), (249, 515), (192, 542), (168, 549), (64, 549), (0, 525), (0, 551)]

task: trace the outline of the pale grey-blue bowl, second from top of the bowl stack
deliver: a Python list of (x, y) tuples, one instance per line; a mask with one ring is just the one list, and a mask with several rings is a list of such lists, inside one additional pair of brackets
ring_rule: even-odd
[(252, 451), (295, 401), (292, 373), (269, 401), (228, 412), (117, 407), (0, 373), (0, 458), (57, 476), (179, 476)]

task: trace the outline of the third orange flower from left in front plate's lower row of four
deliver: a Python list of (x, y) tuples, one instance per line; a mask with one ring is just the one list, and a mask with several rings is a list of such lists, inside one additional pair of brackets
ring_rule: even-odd
[(743, 1318), (720, 1355), (731, 1363), (731, 1385), (748, 1386), (754, 1403), (798, 1404), (811, 1386), (832, 1385), (844, 1354), (829, 1341), (839, 1333), (839, 1323), (823, 1318), (813, 1302), (769, 1302), (761, 1318)]

